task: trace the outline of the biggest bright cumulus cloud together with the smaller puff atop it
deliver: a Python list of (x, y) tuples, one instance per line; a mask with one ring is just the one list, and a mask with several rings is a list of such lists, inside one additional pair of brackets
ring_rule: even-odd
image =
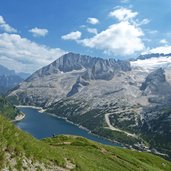
[(139, 20), (138, 12), (124, 7), (115, 8), (108, 16), (116, 18), (117, 22), (115, 21), (101, 32), (97, 32), (95, 28), (84, 26), (88, 32), (95, 35), (84, 39), (75, 39), (75, 41), (82, 46), (102, 50), (110, 55), (128, 56), (146, 49), (141, 26), (148, 24), (149, 19)]

